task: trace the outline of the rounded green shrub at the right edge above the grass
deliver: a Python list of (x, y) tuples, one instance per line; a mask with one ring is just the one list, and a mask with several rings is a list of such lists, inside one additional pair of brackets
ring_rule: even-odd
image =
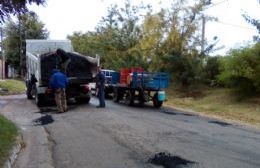
[(219, 81), (232, 87), (240, 96), (260, 92), (260, 43), (232, 50), (221, 60)]

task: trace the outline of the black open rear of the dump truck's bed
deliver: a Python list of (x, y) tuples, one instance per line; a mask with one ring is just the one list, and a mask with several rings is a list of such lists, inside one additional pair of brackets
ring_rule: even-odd
[(46, 53), (40, 56), (42, 85), (48, 85), (53, 69), (60, 69), (69, 78), (70, 84), (84, 84), (92, 82), (97, 71), (97, 62), (86, 56), (65, 52)]

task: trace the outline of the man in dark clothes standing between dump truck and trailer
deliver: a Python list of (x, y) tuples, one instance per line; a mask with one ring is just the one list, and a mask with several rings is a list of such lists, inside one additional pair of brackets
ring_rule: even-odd
[(99, 106), (97, 108), (105, 108), (105, 75), (101, 71), (101, 67), (98, 67), (98, 74), (96, 76), (97, 96), (99, 99)]

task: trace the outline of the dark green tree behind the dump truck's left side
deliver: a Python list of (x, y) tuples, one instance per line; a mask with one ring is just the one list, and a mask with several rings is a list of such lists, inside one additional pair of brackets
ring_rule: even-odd
[(7, 62), (18, 68), (23, 75), (25, 70), (25, 39), (46, 39), (49, 35), (44, 24), (39, 21), (38, 16), (29, 12), (20, 15), (19, 21), (10, 20), (5, 26), (6, 38), (4, 39), (4, 49)]

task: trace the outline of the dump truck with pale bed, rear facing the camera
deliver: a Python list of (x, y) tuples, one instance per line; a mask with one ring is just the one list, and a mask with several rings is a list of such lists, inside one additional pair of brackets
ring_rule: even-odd
[(68, 77), (67, 99), (88, 103), (88, 84), (95, 80), (99, 58), (73, 52), (69, 40), (26, 40), (27, 98), (38, 106), (54, 100), (49, 87), (53, 69), (60, 69)]

